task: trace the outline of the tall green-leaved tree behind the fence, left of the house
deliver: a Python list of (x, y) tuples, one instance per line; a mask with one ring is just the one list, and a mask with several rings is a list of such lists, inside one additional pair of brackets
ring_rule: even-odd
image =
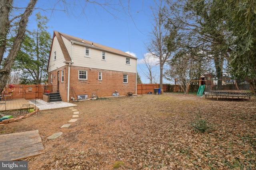
[(21, 84), (41, 84), (47, 81), (48, 56), (51, 35), (46, 31), (48, 19), (36, 14), (37, 29), (26, 31), (24, 41), (16, 57), (16, 69), (22, 70)]

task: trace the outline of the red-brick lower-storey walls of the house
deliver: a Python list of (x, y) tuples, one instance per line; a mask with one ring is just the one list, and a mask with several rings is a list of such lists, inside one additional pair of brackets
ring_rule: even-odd
[[(60, 95), (62, 101), (67, 102), (68, 66), (58, 70), (60, 72)], [(49, 82), (50, 74), (56, 75), (53, 78), (54, 85), (57, 85), (58, 70), (49, 72)], [(64, 82), (61, 82), (61, 70), (64, 70)], [(78, 70), (87, 70), (87, 80), (78, 80)], [(98, 80), (98, 72), (102, 72), (102, 80)], [(128, 83), (123, 83), (123, 74), (128, 74)], [(98, 97), (109, 97), (115, 91), (119, 92), (120, 96), (123, 96), (127, 95), (128, 92), (135, 94), (135, 90), (136, 73), (70, 66), (70, 97), (74, 96), (75, 100), (76, 95), (87, 94), (88, 98), (90, 98), (92, 92), (96, 92)], [(69, 100), (71, 101), (71, 99)]]

